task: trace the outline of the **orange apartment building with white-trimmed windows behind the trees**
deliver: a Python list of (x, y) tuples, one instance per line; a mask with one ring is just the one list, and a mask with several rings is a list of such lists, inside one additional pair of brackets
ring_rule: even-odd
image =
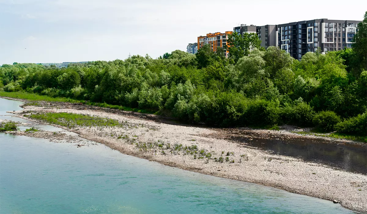
[(205, 44), (210, 44), (212, 51), (217, 51), (217, 48), (224, 49), (225, 57), (228, 57), (228, 50), (225, 50), (227, 46), (227, 35), (233, 33), (232, 31), (226, 31), (225, 33), (207, 33), (206, 36), (197, 37), (197, 50), (203, 47)]

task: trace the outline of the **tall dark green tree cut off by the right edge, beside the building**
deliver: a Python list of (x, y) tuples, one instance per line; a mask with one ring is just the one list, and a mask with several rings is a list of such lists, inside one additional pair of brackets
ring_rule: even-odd
[(352, 44), (353, 51), (356, 54), (357, 61), (360, 62), (361, 69), (367, 69), (367, 11), (364, 14), (363, 21), (358, 23), (358, 32), (354, 37)]

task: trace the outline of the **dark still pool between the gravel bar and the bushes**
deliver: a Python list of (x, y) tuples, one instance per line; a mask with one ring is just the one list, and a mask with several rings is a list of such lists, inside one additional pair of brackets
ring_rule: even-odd
[(232, 140), (279, 155), (299, 157), (346, 171), (367, 174), (367, 144), (336, 144), (322, 139), (262, 139), (233, 135)]

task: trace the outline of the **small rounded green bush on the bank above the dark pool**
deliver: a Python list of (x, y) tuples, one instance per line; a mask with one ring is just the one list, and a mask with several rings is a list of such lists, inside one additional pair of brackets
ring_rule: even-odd
[(334, 131), (334, 127), (340, 122), (340, 117), (332, 111), (322, 111), (313, 117), (313, 124), (321, 131)]

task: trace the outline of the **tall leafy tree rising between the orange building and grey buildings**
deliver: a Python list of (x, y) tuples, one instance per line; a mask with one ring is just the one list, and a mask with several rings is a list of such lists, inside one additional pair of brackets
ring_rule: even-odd
[(248, 56), (250, 50), (261, 48), (261, 41), (256, 33), (244, 33), (243, 35), (228, 34), (226, 49), (229, 51), (229, 58), (237, 62), (240, 58)]

